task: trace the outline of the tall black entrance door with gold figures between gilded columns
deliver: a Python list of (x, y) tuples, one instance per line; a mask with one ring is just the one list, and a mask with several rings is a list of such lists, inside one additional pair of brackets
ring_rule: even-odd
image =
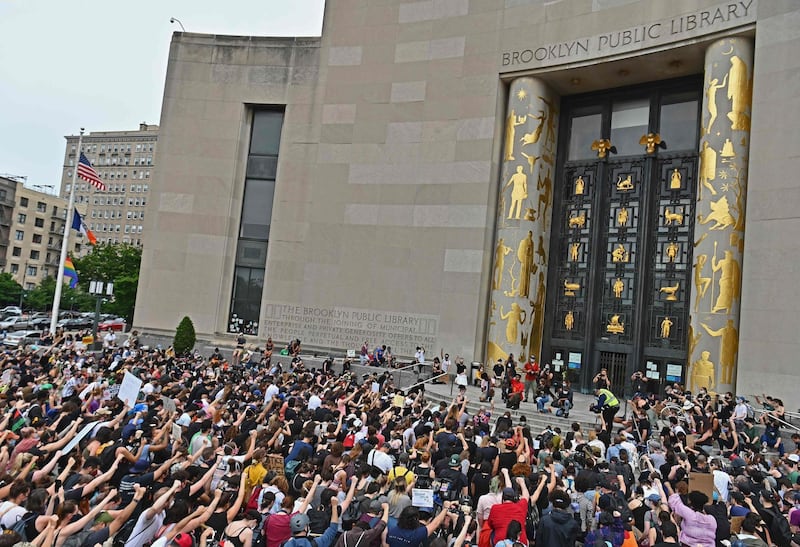
[(700, 88), (563, 100), (542, 357), (584, 391), (610, 354), (625, 392), (684, 380)]

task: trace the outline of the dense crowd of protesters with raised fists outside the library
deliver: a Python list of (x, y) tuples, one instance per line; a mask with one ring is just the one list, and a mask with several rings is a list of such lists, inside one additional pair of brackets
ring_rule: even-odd
[[(758, 416), (730, 393), (662, 400), (640, 374), (620, 415), (601, 372), (584, 430), (549, 367), (486, 371), (487, 402), (557, 405), (538, 431), (493, 404), (472, 414), (465, 382), (430, 404), (390, 368), (239, 345), (230, 360), (135, 338), (0, 354), (0, 547), (788, 547), (800, 526), (800, 437), (782, 439), (774, 399)], [(123, 402), (126, 374), (142, 385)], [(713, 492), (692, 488), (700, 474)]]

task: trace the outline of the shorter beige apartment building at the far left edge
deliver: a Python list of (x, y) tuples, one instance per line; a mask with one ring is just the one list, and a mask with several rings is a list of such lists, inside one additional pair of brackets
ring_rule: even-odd
[[(0, 267), (25, 290), (58, 275), (67, 201), (0, 177)], [(69, 252), (79, 256), (88, 242), (71, 235)]]

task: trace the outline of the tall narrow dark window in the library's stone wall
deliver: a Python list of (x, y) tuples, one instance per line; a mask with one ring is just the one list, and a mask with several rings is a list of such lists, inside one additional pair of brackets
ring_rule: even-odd
[(258, 334), (282, 127), (282, 111), (253, 112), (229, 332)]

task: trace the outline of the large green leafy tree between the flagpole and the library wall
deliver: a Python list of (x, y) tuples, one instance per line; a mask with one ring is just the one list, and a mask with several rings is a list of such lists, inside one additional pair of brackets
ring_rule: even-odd
[(91, 281), (114, 283), (114, 298), (105, 302), (102, 309), (124, 317), (129, 323), (136, 305), (141, 262), (142, 250), (127, 243), (95, 245), (89, 254), (73, 260), (79, 287), (88, 289)]

